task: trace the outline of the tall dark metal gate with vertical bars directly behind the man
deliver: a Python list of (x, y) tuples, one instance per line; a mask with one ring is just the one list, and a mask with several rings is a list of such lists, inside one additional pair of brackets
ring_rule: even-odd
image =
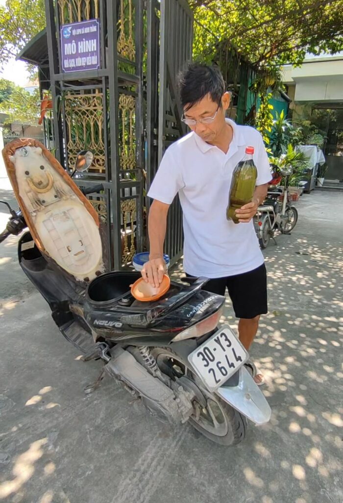
[[(187, 61), (192, 58), (193, 13), (184, 0), (164, 0), (160, 3), (149, 0), (147, 12), (148, 60), (147, 60), (147, 184), (156, 173), (165, 148), (187, 133), (181, 121), (182, 107), (177, 89), (177, 76)], [(159, 24), (159, 29), (158, 29)], [(158, 61), (157, 72), (153, 71)], [(158, 110), (157, 110), (158, 93)], [(182, 210), (179, 196), (168, 212), (165, 237), (165, 253), (171, 263), (176, 262), (183, 250)]]

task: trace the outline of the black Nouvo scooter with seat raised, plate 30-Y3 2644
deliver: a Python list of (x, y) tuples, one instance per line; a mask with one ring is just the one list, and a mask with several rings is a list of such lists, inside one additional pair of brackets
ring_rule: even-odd
[[(140, 274), (106, 272), (103, 265), (101, 225), (85, 197), (102, 185), (81, 192), (35, 140), (16, 140), (3, 155), (21, 211), (4, 203), (11, 217), (0, 242), (28, 227), (18, 245), (21, 268), (83, 360), (103, 361), (85, 391), (107, 373), (151, 415), (189, 422), (227, 446), (245, 438), (247, 418), (269, 421), (270, 407), (247, 370), (249, 355), (230, 327), (220, 325), (224, 297), (206, 291), (207, 279), (171, 281), (159, 300), (136, 300), (130, 285)], [(91, 159), (81, 152), (75, 171)]]

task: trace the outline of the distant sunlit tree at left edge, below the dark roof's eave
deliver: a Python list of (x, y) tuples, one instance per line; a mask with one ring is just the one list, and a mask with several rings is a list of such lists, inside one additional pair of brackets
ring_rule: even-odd
[(29, 93), (16, 86), (14, 82), (2, 78), (0, 79), (0, 97), (3, 89), (9, 90), (7, 97), (0, 100), (0, 112), (9, 116), (7, 121), (36, 125), (41, 111), (39, 89)]

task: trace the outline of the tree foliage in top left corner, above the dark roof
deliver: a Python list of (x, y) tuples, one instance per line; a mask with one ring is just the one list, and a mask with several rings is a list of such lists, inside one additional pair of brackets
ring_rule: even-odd
[(6, 0), (0, 7), (0, 66), (46, 26), (44, 0)]

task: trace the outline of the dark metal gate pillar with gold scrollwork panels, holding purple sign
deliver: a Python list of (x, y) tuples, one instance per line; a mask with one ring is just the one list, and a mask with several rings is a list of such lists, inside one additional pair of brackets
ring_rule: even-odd
[[(106, 230), (107, 267), (119, 269), (143, 246), (143, 3), (46, 0), (45, 6), (56, 157), (71, 171), (80, 150), (94, 153), (76, 183), (103, 184), (89, 200)], [(66, 72), (61, 27), (95, 19), (100, 68)]]

